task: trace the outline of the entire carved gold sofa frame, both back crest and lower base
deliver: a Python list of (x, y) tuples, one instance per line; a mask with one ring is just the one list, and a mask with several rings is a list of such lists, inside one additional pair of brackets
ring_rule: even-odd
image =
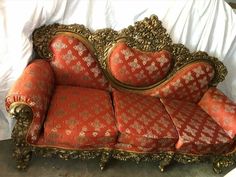
[[(118, 40), (125, 39), (130, 47), (143, 51), (166, 49), (172, 53), (175, 62), (173, 64), (172, 71), (165, 79), (163, 79), (163, 81), (168, 80), (168, 78), (170, 78), (180, 68), (198, 60), (210, 62), (215, 68), (215, 77), (211, 81), (210, 85), (217, 85), (219, 82), (224, 80), (227, 74), (225, 66), (217, 58), (208, 56), (205, 52), (190, 53), (184, 45), (172, 44), (172, 40), (166, 33), (166, 29), (162, 26), (161, 21), (159, 21), (156, 16), (145, 18), (142, 21), (136, 22), (134, 26), (129, 26), (121, 31), (115, 31), (107, 28), (97, 30), (92, 33), (83, 25), (78, 24), (52, 24), (42, 26), (33, 33), (34, 49), (41, 58), (48, 59), (52, 57), (52, 53), (50, 52), (48, 46), (52, 38), (58, 33), (74, 33), (87, 39), (92, 44), (92, 47), (95, 50), (95, 56), (98, 58), (105, 73), (107, 67), (105, 61), (109, 48)], [(126, 87), (124, 85), (114, 85), (117, 87), (123, 87), (123, 89), (126, 90), (137, 89)], [(25, 169), (28, 166), (32, 153), (40, 154), (43, 157), (59, 156), (63, 159), (91, 159), (100, 156), (101, 169), (104, 169), (105, 164), (111, 157), (119, 160), (133, 159), (137, 163), (141, 160), (159, 161), (159, 168), (161, 171), (163, 171), (164, 168), (172, 161), (187, 164), (211, 160), (213, 161), (213, 169), (216, 173), (220, 173), (223, 168), (236, 164), (236, 149), (228, 154), (201, 156), (193, 154), (176, 154), (173, 152), (154, 154), (135, 153), (112, 149), (65, 150), (60, 148), (37, 147), (28, 144), (26, 141), (27, 131), (33, 117), (31, 108), (23, 103), (13, 103), (10, 106), (9, 113), (14, 119), (16, 119), (16, 125), (12, 132), (12, 139), (15, 143), (13, 156), (16, 159), (17, 168), (19, 169)]]

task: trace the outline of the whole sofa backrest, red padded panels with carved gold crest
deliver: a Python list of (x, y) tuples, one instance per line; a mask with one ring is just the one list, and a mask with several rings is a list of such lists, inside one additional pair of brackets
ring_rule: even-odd
[[(196, 101), (227, 74), (217, 58), (173, 44), (156, 16), (121, 31), (92, 33), (79, 24), (42, 26), (33, 41), (40, 57), (52, 59), (56, 83), (62, 85), (107, 89), (111, 84), (123, 91)], [(195, 70), (203, 71), (201, 77)]]

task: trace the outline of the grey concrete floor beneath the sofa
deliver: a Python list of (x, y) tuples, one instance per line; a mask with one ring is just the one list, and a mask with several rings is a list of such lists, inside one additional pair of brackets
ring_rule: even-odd
[(98, 159), (81, 161), (33, 158), (27, 171), (18, 171), (11, 156), (10, 140), (0, 141), (0, 177), (222, 177), (215, 174), (209, 163), (173, 164), (161, 173), (155, 163), (112, 160), (105, 171), (100, 171)]

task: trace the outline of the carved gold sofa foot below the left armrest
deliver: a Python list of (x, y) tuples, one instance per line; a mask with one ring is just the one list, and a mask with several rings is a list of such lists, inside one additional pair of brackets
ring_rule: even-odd
[(16, 167), (19, 170), (25, 170), (29, 166), (32, 151), (29, 147), (16, 147), (13, 151), (13, 157), (16, 160)]

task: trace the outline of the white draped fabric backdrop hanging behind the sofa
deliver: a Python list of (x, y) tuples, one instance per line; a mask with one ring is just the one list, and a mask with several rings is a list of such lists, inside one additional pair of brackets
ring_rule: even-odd
[(31, 33), (43, 24), (81, 23), (119, 30), (156, 14), (174, 42), (204, 50), (228, 68), (220, 84), (236, 101), (236, 15), (223, 0), (2, 0), (0, 1), (0, 140), (13, 122), (4, 98), (31, 59)]

